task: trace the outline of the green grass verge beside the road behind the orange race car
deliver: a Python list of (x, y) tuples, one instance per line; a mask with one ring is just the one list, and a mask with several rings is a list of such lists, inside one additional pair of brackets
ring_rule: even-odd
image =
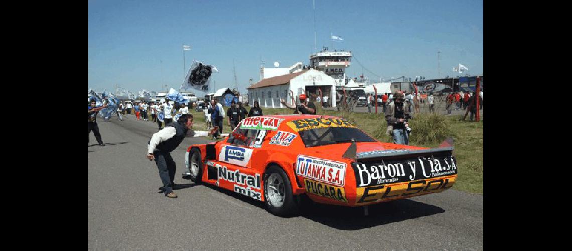
[[(250, 110), (251, 107), (246, 107)], [(190, 109), (189, 109), (190, 110)], [(263, 108), (265, 115), (292, 114), (289, 109)], [(203, 113), (192, 111), (196, 130), (206, 130)], [(345, 113), (343, 111), (324, 111), (317, 106), (316, 114), (332, 115), (348, 119), (358, 128), (383, 142), (392, 142), (386, 134), (387, 123), (384, 114), (375, 113)], [(452, 137), (455, 150), (453, 152), (458, 162), (458, 177), (452, 187), (470, 193), (483, 193), (483, 120), (480, 122), (463, 122), (461, 116), (445, 116), (435, 114), (414, 114), (410, 121), (412, 130), (410, 145), (434, 148), (446, 137)], [(225, 119), (223, 132), (229, 133), (231, 128)]]

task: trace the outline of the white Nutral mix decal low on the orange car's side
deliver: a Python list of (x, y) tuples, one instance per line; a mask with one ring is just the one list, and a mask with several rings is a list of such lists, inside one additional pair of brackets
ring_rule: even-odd
[(260, 174), (252, 176), (250, 174), (241, 173), (240, 170), (229, 170), (227, 166), (216, 164), (217, 167), (217, 183), (220, 180), (235, 183), (233, 191), (236, 193), (244, 194), (245, 196), (262, 200), (262, 193), (260, 191)]

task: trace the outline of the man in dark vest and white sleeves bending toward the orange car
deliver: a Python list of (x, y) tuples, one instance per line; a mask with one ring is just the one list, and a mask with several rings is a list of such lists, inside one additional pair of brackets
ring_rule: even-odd
[(149, 160), (154, 159), (155, 164), (157, 164), (159, 177), (163, 183), (162, 190), (166, 197), (177, 198), (177, 195), (173, 193), (173, 186), (175, 185), (173, 182), (175, 178), (175, 162), (170, 152), (181, 144), (185, 136), (208, 136), (219, 129), (215, 126), (210, 132), (206, 132), (194, 131), (191, 129), (192, 127), (193, 115), (182, 114), (177, 122), (169, 123), (165, 125), (163, 129), (154, 133), (148, 142), (147, 158)]

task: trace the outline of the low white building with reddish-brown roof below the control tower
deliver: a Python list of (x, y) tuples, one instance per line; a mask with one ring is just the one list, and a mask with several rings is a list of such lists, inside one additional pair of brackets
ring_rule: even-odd
[(336, 107), (335, 79), (314, 69), (264, 78), (247, 89), (252, 106), (258, 101), (260, 107), (284, 108), (280, 101), (283, 99), (291, 105), (291, 91), (295, 99), (300, 94), (306, 94), (314, 101), (313, 94), (319, 96), (321, 90), (322, 97), (328, 97), (328, 106)]

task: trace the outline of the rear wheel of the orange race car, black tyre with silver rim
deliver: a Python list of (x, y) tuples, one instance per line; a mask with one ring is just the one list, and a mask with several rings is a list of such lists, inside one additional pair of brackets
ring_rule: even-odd
[(292, 196), (290, 180), (280, 166), (271, 165), (264, 173), (264, 200), (268, 211), (276, 216), (287, 217), (298, 213), (299, 204)]

